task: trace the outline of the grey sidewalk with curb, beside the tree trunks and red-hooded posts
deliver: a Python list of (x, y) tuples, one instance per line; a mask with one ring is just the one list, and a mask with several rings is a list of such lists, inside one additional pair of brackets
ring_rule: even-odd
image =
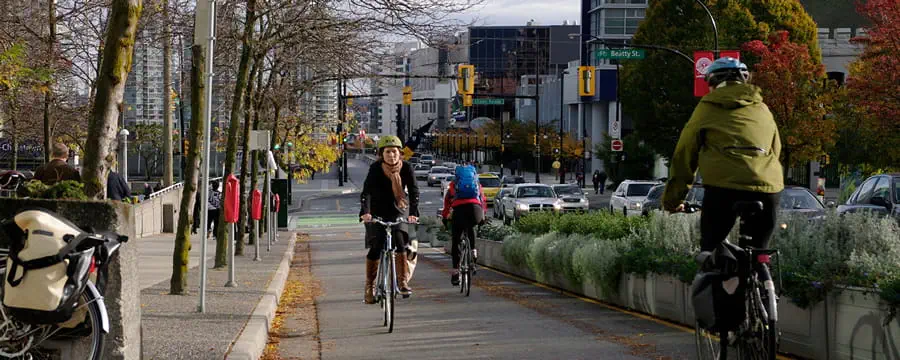
[[(195, 242), (190, 252), (189, 293), (176, 296), (168, 295), (174, 234), (137, 239), (143, 358), (257, 359), (266, 345), (269, 321), (293, 256), (294, 233), (280, 231), (278, 236), (271, 251), (260, 244), (262, 261), (253, 261), (254, 247), (249, 245), (244, 256), (235, 257), (237, 287), (224, 287), (226, 270), (207, 272), (203, 314), (197, 312), (200, 243)], [(207, 254), (212, 267), (215, 241), (209, 241)]]

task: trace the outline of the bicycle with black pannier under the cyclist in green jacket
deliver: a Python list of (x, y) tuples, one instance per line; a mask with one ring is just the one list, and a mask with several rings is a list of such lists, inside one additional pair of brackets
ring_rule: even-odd
[[(779, 336), (777, 328), (778, 295), (775, 291), (775, 284), (771, 280), (769, 264), (771, 256), (778, 255), (778, 250), (757, 249), (747, 245), (752, 243), (753, 239), (745, 234), (743, 226), (743, 219), (762, 211), (762, 206), (763, 204), (758, 201), (734, 204), (734, 210), (741, 218), (739, 245), (731, 245), (727, 243), (727, 240), (722, 245), (726, 249), (731, 249), (725, 252), (730, 253), (729, 256), (735, 260), (734, 262), (722, 261), (729, 263), (728, 265), (716, 263), (722, 254), (707, 251), (700, 253), (696, 258), (701, 274), (694, 281), (692, 295), (695, 303), (694, 309), (698, 314), (695, 337), (697, 354), (701, 360), (727, 359), (729, 346), (733, 346), (737, 350), (738, 359), (774, 360), (776, 357)], [(722, 247), (720, 246), (719, 249)], [(719, 249), (716, 251), (718, 252)], [(728, 267), (728, 269), (723, 267)], [(709, 283), (703, 283), (703, 276), (709, 276), (707, 278)], [(724, 282), (720, 285), (713, 284), (718, 281)], [(731, 281), (730, 284), (729, 281)], [(709, 286), (704, 287), (703, 285)], [(721, 287), (716, 288), (716, 286)], [(725, 295), (724, 291), (726, 290), (724, 289), (729, 287), (734, 287), (735, 291), (742, 292), (742, 294), (736, 292), (738, 297), (734, 299), (738, 305), (742, 304), (744, 309), (744, 316), (737, 326), (729, 327), (721, 324), (711, 326), (709, 320), (701, 321), (700, 318), (704, 317), (701, 313), (705, 313), (707, 319), (720, 314), (716, 312), (716, 306), (697, 305), (698, 299), (701, 299), (702, 302), (706, 302), (704, 299), (713, 300), (713, 304), (724, 307), (726, 305), (721, 304), (721, 301), (728, 298), (729, 295)], [(709, 290), (708, 295), (702, 294), (702, 291), (706, 289)], [(731, 305), (733, 303), (727, 306)], [(721, 321), (721, 319), (717, 320)], [(725, 322), (727, 323), (727, 321)]]

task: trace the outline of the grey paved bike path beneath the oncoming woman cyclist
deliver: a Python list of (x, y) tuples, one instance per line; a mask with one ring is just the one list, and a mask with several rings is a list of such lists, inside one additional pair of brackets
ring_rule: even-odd
[[(349, 216), (344, 216), (348, 218)], [(687, 359), (693, 335), (482, 269), (471, 297), (449, 258), (423, 248), (393, 334), (362, 303), (362, 227), (320, 219), (310, 233), (322, 359)]]

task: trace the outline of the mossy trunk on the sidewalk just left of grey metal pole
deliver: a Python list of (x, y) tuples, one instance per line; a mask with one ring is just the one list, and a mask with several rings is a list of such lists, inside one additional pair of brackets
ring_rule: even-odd
[[(181, 192), (181, 212), (178, 214), (178, 227), (175, 229), (175, 253), (172, 255), (172, 280), (169, 293), (182, 295), (187, 287), (188, 251), (191, 248), (191, 223), (194, 219), (194, 204), (197, 199), (197, 182), (200, 177), (200, 150), (203, 134), (206, 130), (204, 110), (206, 104), (206, 83), (203, 81), (206, 72), (206, 51), (200, 45), (191, 47), (191, 133), (187, 161), (184, 174), (184, 188)], [(202, 211), (202, 209), (200, 210)], [(206, 226), (201, 224), (202, 226)], [(202, 239), (201, 239), (202, 241)]]

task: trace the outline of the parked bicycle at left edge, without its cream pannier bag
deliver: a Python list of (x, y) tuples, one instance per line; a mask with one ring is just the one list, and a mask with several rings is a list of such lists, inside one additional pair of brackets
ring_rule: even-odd
[[(78, 240), (78, 236), (83, 236), (83, 239)], [(85, 232), (78, 236), (71, 240), (80, 242), (69, 261), (72, 261), (73, 264), (88, 261), (88, 264), (78, 266), (89, 267), (89, 269), (86, 269), (88, 278), (85, 280), (83, 289), (80, 290), (81, 294), (76, 301), (72, 318), (59, 324), (22, 321), (15, 318), (0, 303), (0, 358), (41, 359), (47, 356), (46, 350), (41, 348), (45, 341), (79, 338), (89, 339), (90, 350), (87, 353), (87, 359), (100, 360), (103, 358), (103, 344), (110, 327), (109, 315), (101, 294), (104, 287), (102, 284), (105, 282), (105, 269), (110, 258), (122, 243), (128, 241), (128, 238), (114, 233)], [(9, 255), (8, 248), (0, 248), (0, 279), (6, 278)], [(101, 284), (100, 289), (95, 282)], [(0, 298), (3, 298), (3, 293), (3, 287), (0, 287)]]

